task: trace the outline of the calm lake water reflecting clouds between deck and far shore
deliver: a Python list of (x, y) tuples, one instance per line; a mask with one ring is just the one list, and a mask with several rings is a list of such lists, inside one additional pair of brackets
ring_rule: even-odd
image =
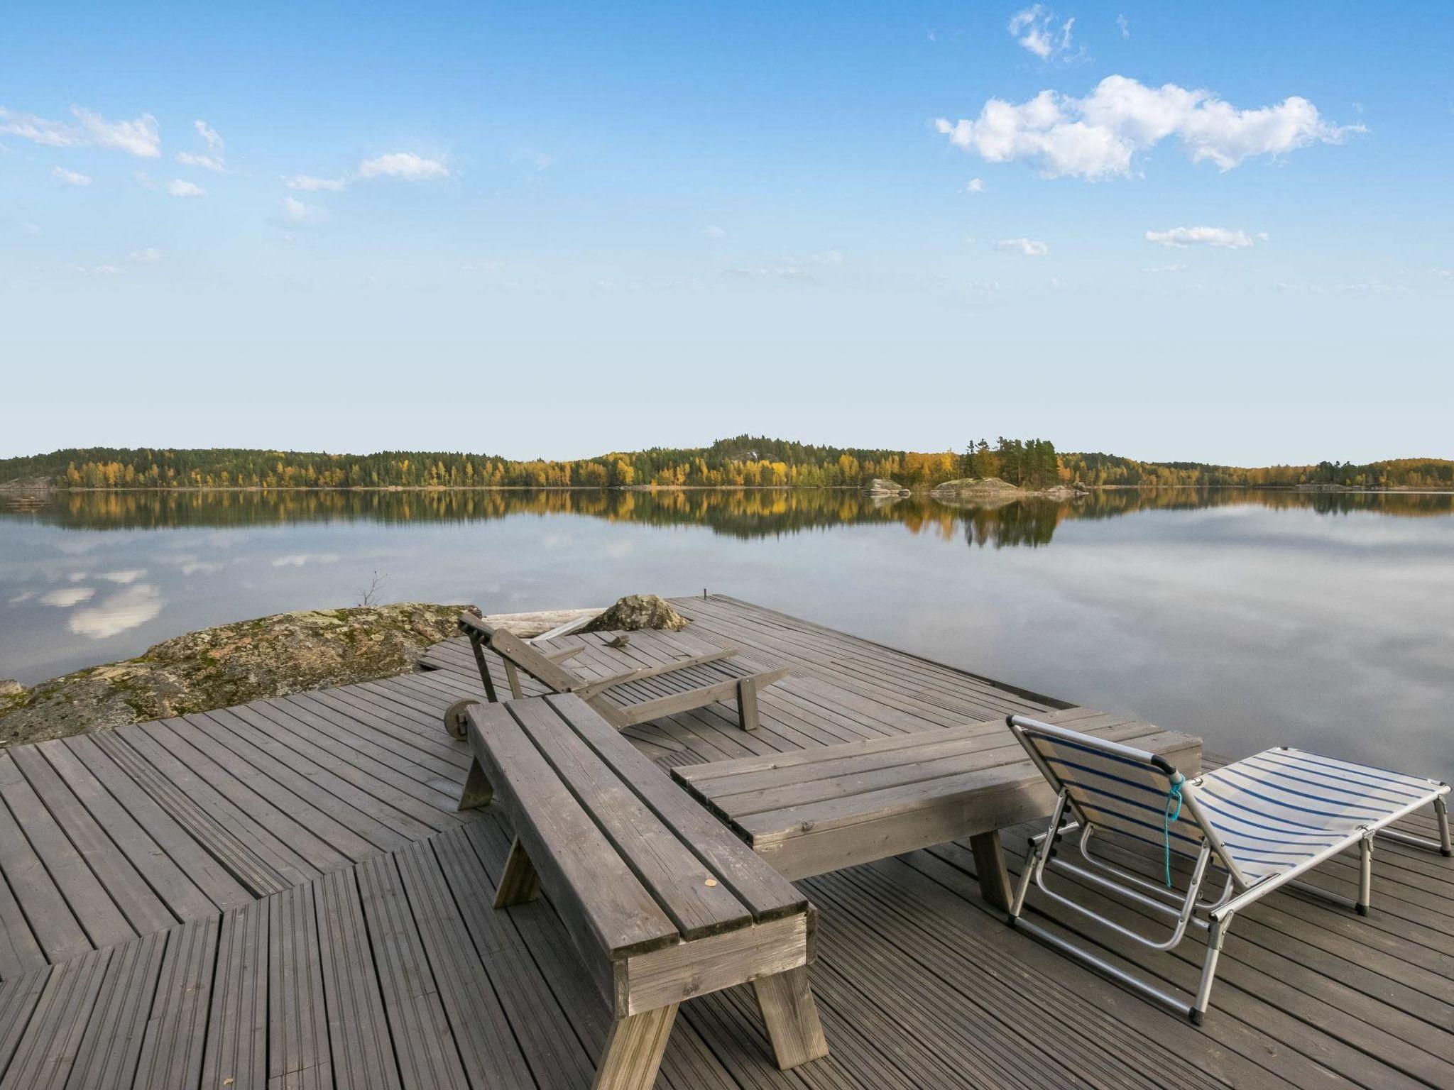
[(1454, 773), (1454, 497), (77, 493), (0, 513), (0, 677), (379, 599), (730, 593), (1202, 734)]

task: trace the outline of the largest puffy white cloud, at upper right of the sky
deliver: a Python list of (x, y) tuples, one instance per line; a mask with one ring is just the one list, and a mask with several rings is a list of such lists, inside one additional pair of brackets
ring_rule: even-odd
[(1310, 144), (1339, 144), (1361, 125), (1333, 125), (1297, 96), (1277, 106), (1236, 109), (1207, 90), (1173, 83), (1147, 87), (1125, 76), (1106, 76), (1083, 99), (1043, 90), (1011, 103), (990, 99), (980, 116), (935, 128), (955, 147), (989, 163), (1035, 163), (1047, 177), (1130, 174), (1131, 160), (1176, 137), (1192, 161), (1232, 170), (1253, 156), (1281, 156)]

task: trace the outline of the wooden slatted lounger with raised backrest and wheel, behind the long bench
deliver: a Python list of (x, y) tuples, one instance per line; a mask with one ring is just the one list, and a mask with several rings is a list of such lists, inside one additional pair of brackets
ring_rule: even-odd
[[(474, 658), (480, 667), (480, 680), (486, 696), (496, 701), (494, 680), (484, 658), (489, 648), (505, 660), (505, 677), (510, 685), (510, 696), (521, 699), (519, 671), (523, 670), (537, 682), (555, 693), (574, 693), (589, 703), (602, 719), (618, 731), (638, 722), (650, 722), (666, 715), (705, 708), (718, 701), (737, 701), (737, 722), (744, 731), (758, 728), (758, 690), (787, 676), (788, 669), (756, 670), (744, 663), (731, 661), (739, 648), (724, 647), (707, 654), (692, 655), (663, 666), (648, 666), (640, 670), (601, 680), (590, 680), (571, 673), (566, 660), (583, 648), (570, 648), (545, 654), (531, 647), (513, 632), (496, 628), (489, 621), (473, 613), (459, 618), (459, 629), (470, 637)], [(662, 695), (662, 689), (667, 689)], [(455, 737), (464, 737), (459, 708), (451, 708), (445, 725)]]

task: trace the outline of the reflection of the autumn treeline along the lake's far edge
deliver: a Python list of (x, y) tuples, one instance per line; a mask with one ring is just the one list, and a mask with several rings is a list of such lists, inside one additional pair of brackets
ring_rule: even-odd
[[(1144, 510), (1258, 504), (1317, 514), (1375, 512), (1439, 516), (1447, 493), (1317, 493), (1245, 488), (1105, 490), (1073, 500), (944, 501), (928, 496), (883, 500), (848, 490), (429, 490), (429, 491), (79, 491), (60, 493), (33, 512), (4, 517), (65, 529), (124, 530), (182, 526), (259, 526), (300, 522), (480, 522), (515, 514), (583, 514), (648, 526), (707, 526), (734, 538), (862, 523), (899, 523), (913, 533), (963, 536), (976, 546), (1048, 545), (1067, 519), (1114, 519)], [(332, 564), (337, 554), (292, 554), (278, 565)], [(193, 558), (195, 570), (208, 561)], [(214, 568), (215, 570), (215, 568)], [(112, 573), (126, 576), (129, 573)], [(142, 573), (137, 573), (135, 578)], [(124, 581), (124, 580), (116, 580)]]

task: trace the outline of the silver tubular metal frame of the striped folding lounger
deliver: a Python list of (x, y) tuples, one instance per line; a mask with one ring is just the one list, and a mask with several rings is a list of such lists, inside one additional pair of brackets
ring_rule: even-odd
[[(1047, 782), (1057, 791), (1056, 805), (1051, 811), (1048, 827), (1044, 833), (1032, 837), (1029, 841), (1031, 853), (1025, 860), (1025, 869), (1015, 888), (1015, 898), (1009, 908), (1009, 924), (1028, 932), (1045, 945), (1053, 946), (1054, 949), (1115, 980), (1133, 991), (1137, 991), (1173, 1012), (1186, 1014), (1197, 1025), (1201, 1025), (1202, 1017), (1207, 1013), (1207, 1004), (1211, 998), (1211, 985), (1217, 975), (1217, 959), (1221, 953), (1223, 939), (1226, 937), (1227, 929), (1232, 926), (1233, 917), (1242, 908), (1250, 905), (1253, 901), (1258, 901), (1282, 885), (1293, 885), (1304, 892), (1322, 897), (1338, 905), (1357, 908), (1358, 913), (1367, 914), (1373, 885), (1374, 837), (1383, 836), (1399, 843), (1428, 847), (1438, 850), (1445, 856), (1451, 853), (1448, 811), (1444, 801), (1444, 794), (1448, 792), (1448, 786), (1444, 786), (1442, 792), (1431, 792), (1431, 796), (1419, 798), (1406, 807), (1393, 811), (1387, 817), (1359, 827), (1296, 866), (1266, 875), (1256, 881), (1250, 881), (1237, 866), (1236, 860), (1232, 859), (1232, 856), (1224, 850), (1217, 830), (1207, 817), (1207, 811), (1197, 799), (1197, 788), (1201, 782), (1200, 778), (1185, 779), (1165, 757), (1147, 750), (1137, 750), (1131, 746), (1122, 746), (1120, 743), (1106, 741), (1093, 735), (1080, 734), (1064, 727), (1054, 727), (1024, 715), (1009, 715), (1005, 722), (1009, 725), (1019, 744), (1029, 754), (1035, 767), (1040, 769)], [(1093, 747), (1105, 756), (1138, 763), (1146, 769), (1165, 776), (1169, 783), (1181, 783), (1182, 814), (1188, 815), (1189, 820), (1200, 827), (1202, 836), (1201, 850), (1197, 853), (1192, 863), (1185, 894), (1178, 895), (1176, 892), (1166, 889), (1141, 875), (1133, 873), (1131, 871), (1117, 866), (1105, 859), (1099, 859), (1090, 852), (1090, 843), (1095, 837), (1096, 825), (1090, 817), (1079, 808), (1070, 789), (1061, 782), (1059, 773), (1056, 773), (1056, 770), (1044, 760), (1040, 750), (1035, 748), (1035, 735), (1051, 741), (1075, 741), (1077, 746)], [(1390, 823), (1397, 821), (1399, 818), (1406, 817), (1431, 802), (1434, 804), (1439, 825), (1439, 840), (1435, 841), (1387, 828)], [(1067, 810), (1072, 811), (1070, 820), (1066, 820)], [(1060, 852), (1057, 852), (1059, 841), (1066, 836), (1075, 834), (1076, 831), (1080, 833), (1080, 855), (1085, 859), (1086, 866), (1072, 863), (1063, 859)], [(1357, 901), (1298, 881), (1300, 875), (1320, 866), (1355, 844), (1358, 846), (1359, 855)], [(1115, 920), (1109, 920), (1092, 908), (1077, 904), (1064, 894), (1048, 888), (1045, 885), (1045, 871), (1050, 868), (1073, 875), (1083, 882), (1109, 892), (1114, 897), (1130, 900), (1143, 908), (1170, 917), (1173, 920), (1170, 934), (1165, 939), (1143, 934), (1141, 932), (1125, 927)], [(1202, 887), (1207, 884), (1208, 869), (1213, 868), (1226, 873), (1226, 882), (1216, 900), (1204, 900), (1201, 897)], [(1093, 920), (1096, 924), (1109, 929), (1121, 937), (1152, 950), (1168, 952), (1175, 949), (1185, 937), (1188, 926), (1207, 930), (1207, 955), (1202, 962), (1201, 980), (1198, 982), (1195, 997), (1191, 1003), (1188, 1003), (1184, 997), (1160, 988), (1156, 984), (1152, 984), (1150, 981), (1111, 964), (1085, 946), (1076, 945), (1069, 939), (1064, 939), (1045, 927), (1024, 919), (1025, 897), (1029, 892), (1031, 884), (1034, 884), (1041, 894), (1048, 897), (1056, 904), (1070, 908), (1076, 914)]]

